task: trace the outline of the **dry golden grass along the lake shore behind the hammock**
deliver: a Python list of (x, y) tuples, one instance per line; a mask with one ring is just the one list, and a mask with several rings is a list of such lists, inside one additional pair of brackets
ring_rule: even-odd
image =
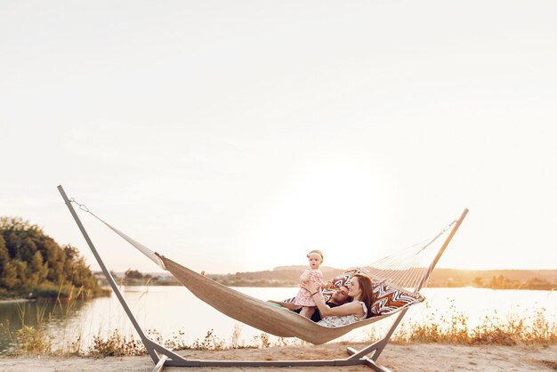
[[(61, 301), (59, 296), (57, 306), (69, 317), (70, 309), (75, 305), (76, 299), (83, 296), (81, 290), (69, 291), (67, 301)], [(72, 295), (76, 294), (76, 295)], [(9, 325), (0, 323), (0, 330), (12, 340), (12, 355), (79, 355), (79, 356), (133, 356), (143, 355), (147, 351), (141, 340), (133, 336), (123, 336), (119, 330), (114, 330), (107, 337), (101, 335), (93, 336), (92, 343), (84, 350), (84, 340), (81, 334), (74, 336), (73, 340), (67, 340), (69, 336), (62, 335), (56, 344), (65, 345), (56, 348), (53, 344), (53, 336), (48, 335), (45, 330), (47, 322), (52, 320), (52, 313), (47, 314), (45, 307), (36, 304), (36, 326), (27, 326), (24, 322), (24, 307), (19, 307), (22, 327), (11, 332)], [(554, 317), (553, 317), (554, 318)], [(469, 319), (462, 312), (456, 311), (451, 306), (448, 315), (439, 315), (431, 311), (428, 317), (418, 322), (405, 322), (400, 325), (398, 331), (392, 336), (392, 342), (405, 343), (439, 343), (439, 344), (497, 344), (497, 345), (531, 345), (531, 344), (557, 344), (557, 323), (554, 319), (545, 316), (545, 309), (540, 309), (534, 314), (524, 318), (508, 317), (500, 319), (497, 314), (485, 317), (479, 326), (471, 327)], [(375, 329), (375, 328), (373, 328)], [(170, 338), (165, 339), (156, 330), (146, 331), (149, 339), (165, 346), (165, 348), (178, 350), (226, 350), (241, 348), (270, 348), (275, 346), (288, 346), (303, 344), (297, 339), (278, 338), (271, 341), (268, 334), (262, 333), (254, 336), (250, 343), (245, 343), (241, 335), (242, 327), (235, 326), (228, 340), (214, 335), (214, 330), (207, 331), (206, 336), (187, 344), (183, 338), (184, 333), (178, 332)], [(376, 338), (375, 334), (370, 338)]]

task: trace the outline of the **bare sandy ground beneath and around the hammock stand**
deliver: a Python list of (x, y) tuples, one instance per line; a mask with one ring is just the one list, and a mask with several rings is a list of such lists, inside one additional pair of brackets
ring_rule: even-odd
[[(358, 348), (359, 344), (351, 344)], [(180, 352), (193, 360), (295, 360), (345, 358), (347, 344), (289, 346), (264, 350), (241, 349), (222, 352)], [(459, 346), (440, 344), (389, 344), (378, 362), (392, 371), (554, 371), (557, 370), (557, 346)], [(0, 371), (150, 371), (149, 357), (61, 358), (3, 357)], [(165, 371), (370, 371), (365, 366), (288, 367), (288, 368), (170, 368)]]

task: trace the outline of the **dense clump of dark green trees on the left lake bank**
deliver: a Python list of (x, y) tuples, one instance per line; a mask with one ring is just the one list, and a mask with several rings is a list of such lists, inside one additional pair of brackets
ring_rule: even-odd
[(0, 217), (0, 297), (103, 292), (76, 247), (60, 246), (19, 217)]

